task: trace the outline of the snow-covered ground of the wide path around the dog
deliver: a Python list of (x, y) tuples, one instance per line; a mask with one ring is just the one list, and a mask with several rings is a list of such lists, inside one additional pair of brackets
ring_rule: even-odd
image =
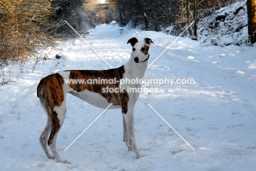
[[(98, 26), (88, 42), (113, 67), (130, 58), (131, 37), (151, 38), (150, 64), (176, 37), (152, 31), (120, 34), (117, 25)], [(55, 54), (63, 52), (59, 60)], [(82, 39), (59, 42), (38, 52), (51, 61), (11, 64), (10, 79), (0, 86), (1, 170), (255, 170), (256, 48), (205, 46), (179, 38), (152, 66), (145, 79), (194, 79), (193, 85), (156, 85), (157, 93), (141, 93), (135, 105), (136, 159), (123, 142), (120, 109), (107, 110), (75, 143), (78, 135), (103, 111), (68, 95), (67, 117), (57, 150), (71, 164), (49, 160), (39, 144), (46, 115), (36, 95), (40, 79), (54, 70), (108, 69)], [(35, 67), (33, 69), (33, 67)], [(195, 148), (184, 143), (147, 105), (149, 103)]]

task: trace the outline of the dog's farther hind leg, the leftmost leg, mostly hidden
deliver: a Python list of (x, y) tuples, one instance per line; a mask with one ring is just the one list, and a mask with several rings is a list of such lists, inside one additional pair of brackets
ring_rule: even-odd
[(46, 156), (50, 159), (55, 159), (55, 156), (50, 155), (50, 152), (48, 151), (48, 147), (47, 147), (47, 139), (49, 137), (50, 132), (51, 132), (51, 117), (48, 115), (46, 126), (44, 128), (44, 131), (40, 135), (39, 141)]

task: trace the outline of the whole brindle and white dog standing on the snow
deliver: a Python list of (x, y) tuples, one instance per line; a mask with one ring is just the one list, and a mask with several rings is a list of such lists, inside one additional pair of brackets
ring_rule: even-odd
[[(66, 117), (66, 93), (83, 99), (96, 107), (106, 109), (121, 108), (123, 114), (124, 141), (129, 151), (135, 151), (136, 157), (141, 157), (135, 142), (133, 108), (139, 97), (139, 93), (127, 92), (127, 87), (139, 88), (139, 84), (121, 85), (124, 91), (103, 92), (106, 88), (119, 88), (120, 79), (142, 79), (147, 69), (149, 59), (149, 46), (152, 40), (144, 38), (138, 42), (136, 38), (128, 40), (127, 44), (132, 45), (131, 58), (123, 66), (108, 70), (66, 70), (51, 74), (40, 80), (37, 87), (37, 96), (45, 109), (48, 121), (45, 129), (40, 135), (39, 141), (45, 154), (57, 162), (69, 163), (62, 160), (56, 150), (56, 139)], [(65, 79), (116, 79), (116, 84), (66, 84)], [(47, 143), (53, 152), (50, 155)]]

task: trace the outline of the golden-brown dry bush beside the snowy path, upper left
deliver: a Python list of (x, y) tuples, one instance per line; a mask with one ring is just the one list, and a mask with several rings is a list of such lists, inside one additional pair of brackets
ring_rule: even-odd
[[(49, 2), (2, 0), (0, 3), (0, 65), (27, 60), (35, 46), (48, 44)], [(1, 67), (0, 66), (0, 67)]]

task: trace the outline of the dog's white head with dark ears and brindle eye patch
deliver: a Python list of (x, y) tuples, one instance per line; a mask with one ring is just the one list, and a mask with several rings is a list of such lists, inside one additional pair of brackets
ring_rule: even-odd
[[(144, 38), (144, 41), (138, 41), (135, 37), (128, 40), (127, 44), (132, 45), (132, 56), (136, 63), (148, 61), (149, 46), (152, 44), (152, 40), (149, 38)], [(153, 43), (154, 44), (154, 43)]]

